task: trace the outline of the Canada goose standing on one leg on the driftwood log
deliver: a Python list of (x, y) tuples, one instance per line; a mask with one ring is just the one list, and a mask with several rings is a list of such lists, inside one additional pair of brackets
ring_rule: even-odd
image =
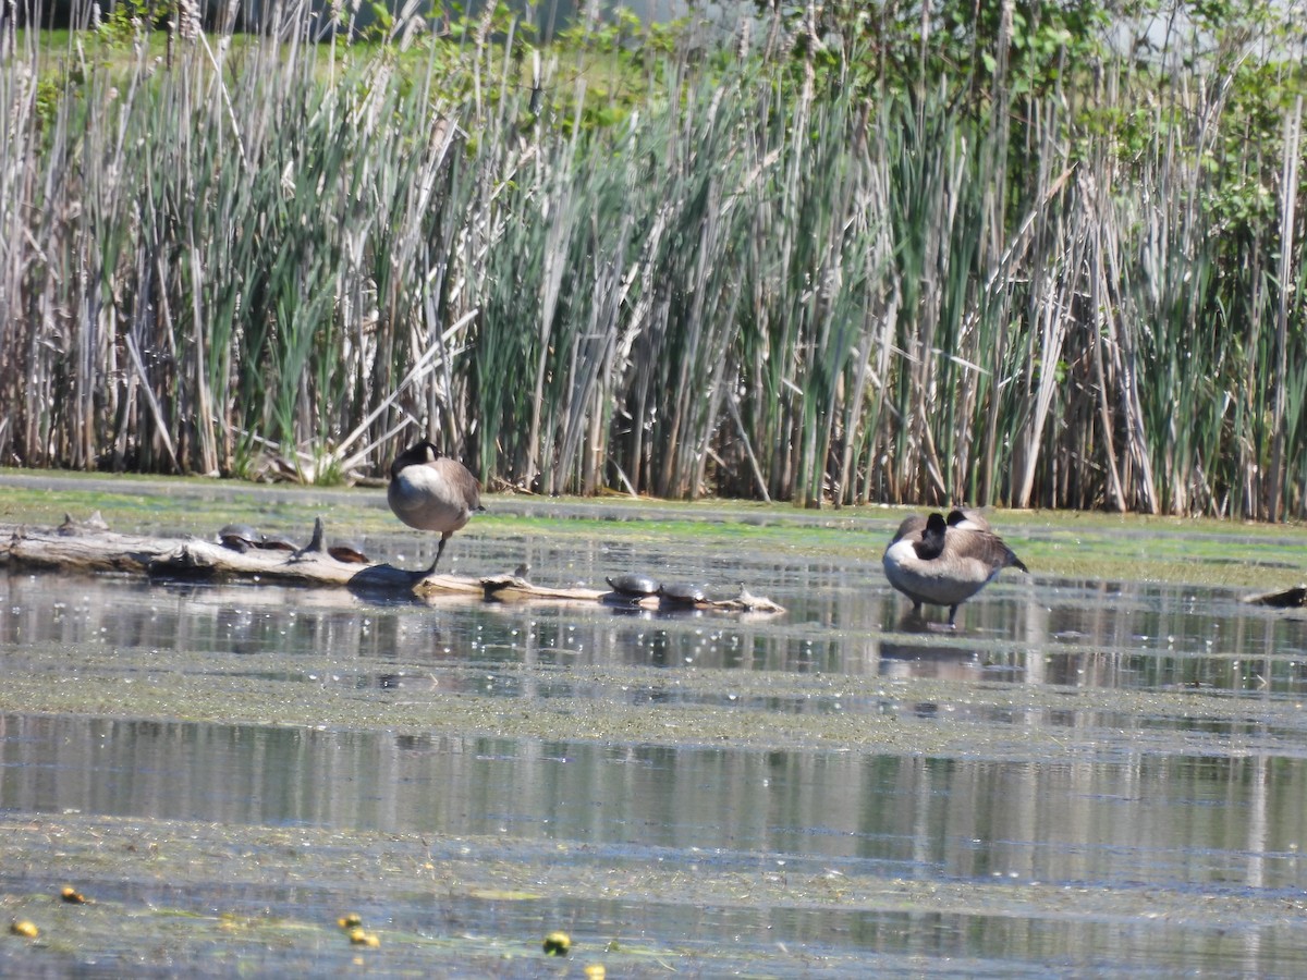
[(429, 442), (414, 443), (395, 457), (386, 500), (395, 516), (410, 528), (440, 532), (427, 575), (440, 563), (450, 536), (468, 523), (473, 511), (485, 510), (476, 477), (457, 460), (442, 456)]

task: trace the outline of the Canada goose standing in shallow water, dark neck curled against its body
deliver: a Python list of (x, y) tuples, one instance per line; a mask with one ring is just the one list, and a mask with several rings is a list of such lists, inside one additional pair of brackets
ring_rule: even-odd
[(954, 511), (961, 520), (951, 524), (941, 514), (932, 514), (924, 527), (908, 517), (885, 549), (885, 578), (912, 600), (912, 612), (923, 602), (949, 606), (949, 625), (958, 606), (989, 584), (999, 572), (1012, 566), (1030, 571), (1002, 538), (988, 529), (979, 515)]

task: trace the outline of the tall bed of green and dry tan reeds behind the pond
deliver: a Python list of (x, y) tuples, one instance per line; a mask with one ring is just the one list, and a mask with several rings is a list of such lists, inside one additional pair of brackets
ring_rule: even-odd
[(4, 463), (327, 482), (430, 434), (536, 493), (1307, 511), (1303, 110), (1251, 47), (961, 99), (782, 20), (281, 16), (0, 21)]

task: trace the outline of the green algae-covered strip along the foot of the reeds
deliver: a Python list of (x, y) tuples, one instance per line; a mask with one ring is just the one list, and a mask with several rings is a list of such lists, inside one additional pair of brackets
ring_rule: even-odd
[[(893, 507), (795, 512), (738, 500), (652, 502), (488, 497), (460, 537), (488, 542), (620, 541), (637, 554), (668, 541), (716, 554), (804, 555), (852, 562), (881, 579), (881, 554), (910, 511)], [(105, 478), (0, 470), (0, 524), (52, 528), (91, 514), (120, 533), (213, 538), (227, 523), (307, 541), (314, 517), (331, 536), (359, 537), (375, 561), (418, 540), (359, 487), (254, 486), (171, 477)], [(1149, 581), (1266, 592), (1307, 580), (1307, 529), (1216, 519), (1067, 511), (996, 511), (995, 527), (1043, 579)], [(516, 561), (516, 559), (514, 559)], [(476, 574), (486, 568), (472, 566)], [(545, 572), (548, 575), (548, 572)], [(596, 580), (596, 585), (601, 581)]]

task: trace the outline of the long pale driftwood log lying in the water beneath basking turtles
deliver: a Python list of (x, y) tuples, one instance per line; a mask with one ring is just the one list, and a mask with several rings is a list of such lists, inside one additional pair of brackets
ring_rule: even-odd
[[(535, 585), (524, 574), (473, 579), (461, 575), (427, 575), (386, 563), (346, 562), (323, 546), (323, 523), (314, 524), (314, 538), (298, 550), (246, 547), (243, 550), (203, 538), (163, 538), (118, 534), (99, 515), (59, 528), (0, 524), (0, 566), (60, 568), (81, 572), (132, 572), (166, 579), (221, 579), (280, 584), (342, 587), (365, 595), (412, 595), (418, 598), (467, 596), (495, 601), (603, 602), (621, 608), (659, 609), (659, 596), (631, 600), (614, 592), (587, 588)], [(525, 570), (519, 568), (519, 572)], [(783, 613), (784, 609), (744, 588), (727, 600), (704, 600), (677, 609), (715, 609), (729, 613)]]

